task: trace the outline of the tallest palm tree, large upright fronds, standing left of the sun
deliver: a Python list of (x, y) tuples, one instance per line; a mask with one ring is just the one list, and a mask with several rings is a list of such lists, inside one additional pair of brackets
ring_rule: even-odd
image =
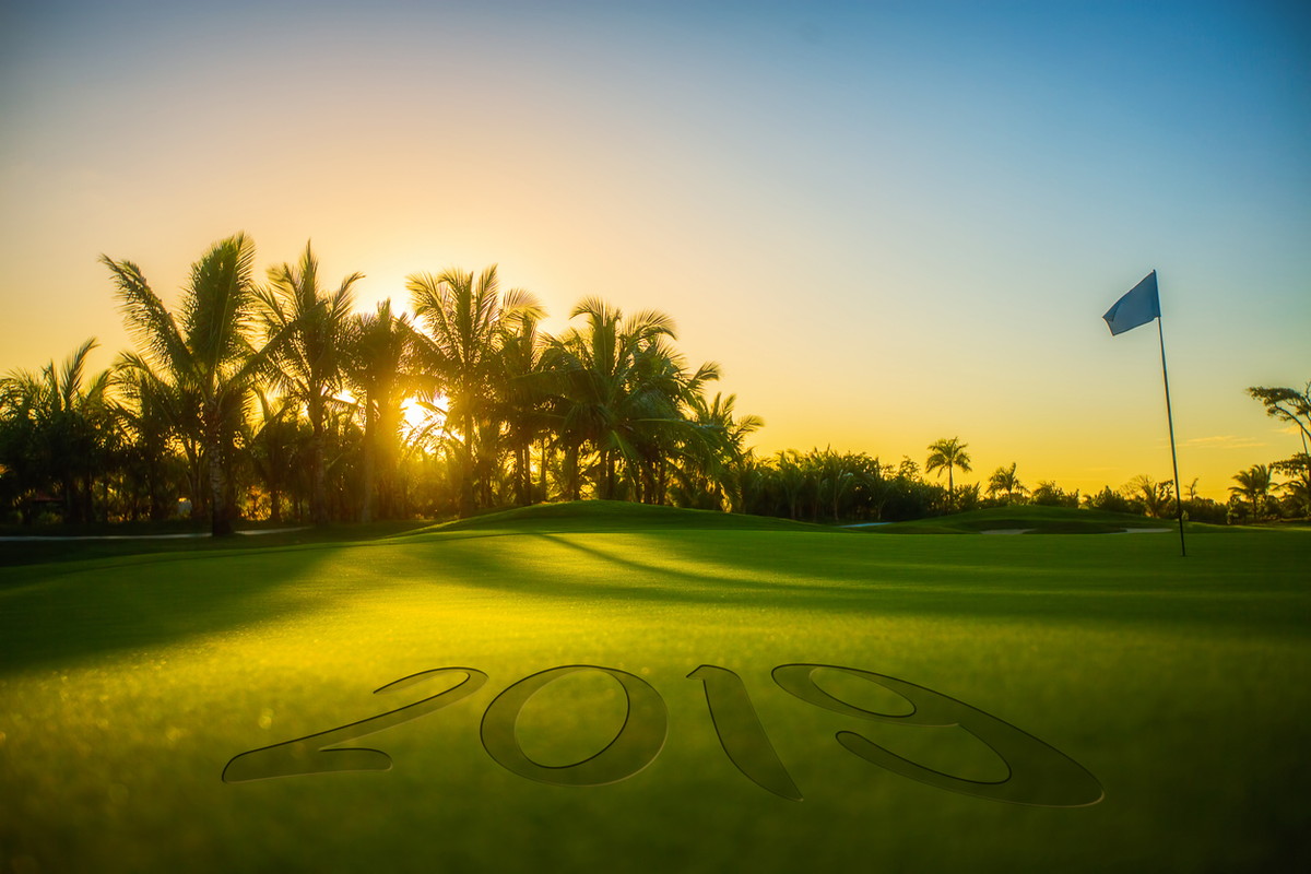
[(254, 244), (244, 233), (214, 244), (191, 265), (177, 316), (151, 291), (131, 261), (101, 256), (118, 287), (127, 329), (143, 352), (125, 354), (121, 367), (149, 375), (178, 398), (177, 427), (187, 428), (208, 468), (210, 528), (232, 533), (233, 438), (245, 418), (250, 389), (267, 358), (294, 325), (261, 350), (250, 343), (256, 312)]

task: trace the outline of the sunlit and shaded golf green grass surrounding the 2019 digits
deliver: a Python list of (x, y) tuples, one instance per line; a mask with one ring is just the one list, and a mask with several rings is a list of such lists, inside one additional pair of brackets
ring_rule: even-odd
[[(0, 567), (0, 870), (1291, 870), (1311, 824), (1308, 560), (1307, 531), (1200, 535), (1181, 560), (1172, 535), (874, 537), (573, 506)], [(771, 680), (787, 663), (950, 696), (1066, 753), (1105, 798), (1003, 803), (868, 764), (835, 732), (1007, 773), (960, 727), (812, 706)], [(669, 735), (648, 768), (556, 786), (484, 751), (493, 698), (568, 664), (659, 693)], [(687, 679), (701, 664), (741, 676), (804, 801), (733, 765)], [(239, 753), (442, 692), (454, 680), (372, 693), (440, 667), (489, 680), (345, 744), (391, 770), (220, 780)], [(524, 752), (602, 750), (619, 689), (599, 672), (551, 684), (519, 717)]]

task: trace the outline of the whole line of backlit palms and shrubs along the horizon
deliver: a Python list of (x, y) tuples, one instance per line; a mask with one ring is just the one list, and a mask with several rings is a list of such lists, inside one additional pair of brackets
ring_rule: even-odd
[[(134, 262), (101, 257), (134, 349), (89, 373), (88, 339), (62, 364), (0, 379), (9, 522), (182, 512), (225, 535), (239, 518), (442, 518), (585, 497), (812, 522), (1021, 502), (1172, 515), (1173, 484), (1147, 477), (1080, 499), (1055, 482), (1028, 489), (1011, 464), (957, 486), (971, 470), (958, 438), (931, 444), (923, 469), (832, 449), (758, 457), (759, 417), (711, 394), (720, 366), (690, 366), (657, 311), (586, 297), (548, 334), (540, 301), (502, 290), (492, 266), (409, 275), (413, 316), (389, 299), (361, 313), (362, 275), (325, 288), (308, 244), (262, 283), (254, 258), (245, 235), (215, 244), (170, 311)], [(1308, 431), (1311, 385), (1249, 392)], [(928, 480), (944, 472), (945, 489)], [(1291, 478), (1277, 487), (1273, 473)], [(1243, 502), (1253, 519), (1307, 515), (1306, 452), (1240, 476), (1230, 506), (1197, 498), (1194, 482), (1192, 518), (1224, 520)]]

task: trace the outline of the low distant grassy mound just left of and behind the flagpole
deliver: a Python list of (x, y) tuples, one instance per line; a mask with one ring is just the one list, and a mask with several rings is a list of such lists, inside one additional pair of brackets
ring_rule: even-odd
[(1033, 535), (1109, 535), (1130, 529), (1169, 528), (1173, 524), (1172, 519), (1148, 519), (1124, 512), (1025, 504), (971, 510), (939, 519), (898, 522), (869, 531), (889, 535), (974, 535), (988, 531), (1023, 531)]

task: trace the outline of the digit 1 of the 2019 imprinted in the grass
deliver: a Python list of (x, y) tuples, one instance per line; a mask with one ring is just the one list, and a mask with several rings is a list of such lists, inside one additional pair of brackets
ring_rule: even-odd
[(762, 789), (788, 801), (801, 801), (801, 790), (773, 751), (742, 677), (714, 664), (703, 664), (687, 676), (705, 687), (711, 721), (729, 761)]

